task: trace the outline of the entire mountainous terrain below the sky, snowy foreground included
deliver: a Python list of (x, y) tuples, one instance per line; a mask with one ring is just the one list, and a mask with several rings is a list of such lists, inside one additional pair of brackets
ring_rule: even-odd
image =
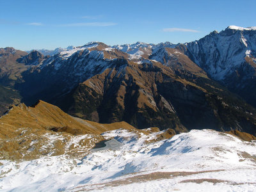
[(253, 191), (256, 28), (186, 44), (0, 49), (1, 191)]

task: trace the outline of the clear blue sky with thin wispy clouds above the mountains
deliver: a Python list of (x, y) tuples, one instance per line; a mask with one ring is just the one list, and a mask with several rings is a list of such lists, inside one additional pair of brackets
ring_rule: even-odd
[(0, 47), (54, 49), (90, 41), (184, 43), (256, 26), (255, 0), (0, 0)]

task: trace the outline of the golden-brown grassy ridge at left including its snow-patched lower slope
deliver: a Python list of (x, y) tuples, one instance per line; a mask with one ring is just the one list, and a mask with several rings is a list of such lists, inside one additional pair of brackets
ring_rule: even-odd
[(83, 157), (95, 143), (104, 140), (100, 133), (120, 128), (143, 132), (125, 122), (97, 124), (75, 118), (42, 100), (34, 107), (19, 104), (0, 118), (0, 159), (61, 154)]

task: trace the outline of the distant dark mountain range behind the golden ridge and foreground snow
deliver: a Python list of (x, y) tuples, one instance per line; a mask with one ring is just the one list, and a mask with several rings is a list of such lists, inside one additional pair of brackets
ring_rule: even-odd
[(70, 115), (138, 129), (256, 133), (256, 29), (186, 44), (90, 42), (44, 56), (0, 49), (1, 112), (45, 100)]

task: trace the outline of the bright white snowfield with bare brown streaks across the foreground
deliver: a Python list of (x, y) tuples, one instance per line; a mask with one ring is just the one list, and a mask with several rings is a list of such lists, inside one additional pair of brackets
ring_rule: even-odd
[(168, 140), (125, 129), (104, 132), (120, 150), (83, 159), (0, 161), (1, 191), (255, 191), (256, 143), (212, 130)]

